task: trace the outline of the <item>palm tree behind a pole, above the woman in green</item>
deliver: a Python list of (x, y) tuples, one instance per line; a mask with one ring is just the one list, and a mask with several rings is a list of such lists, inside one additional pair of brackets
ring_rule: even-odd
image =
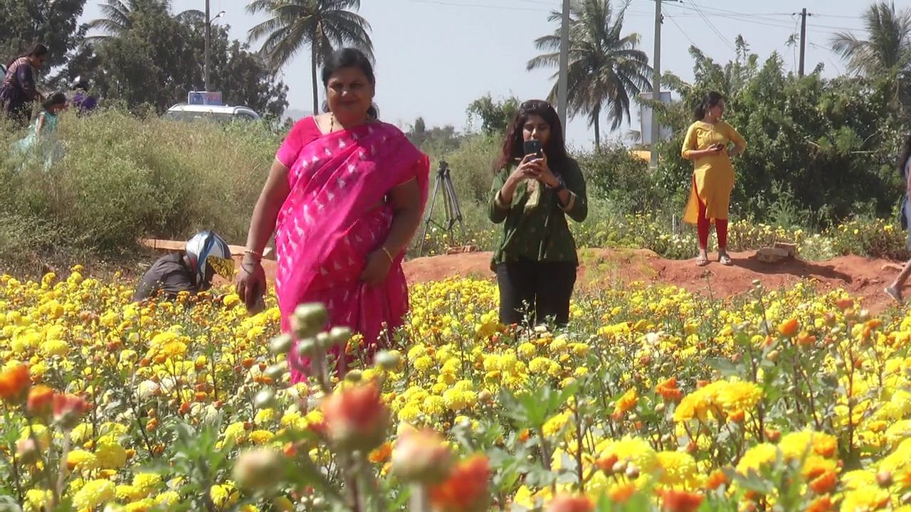
[[(571, 117), (587, 114), (595, 128), (595, 147), (600, 148), (600, 117), (608, 109), (610, 129), (617, 129), (626, 118), (630, 122), (630, 97), (650, 89), (649, 57), (638, 49), (639, 34), (623, 36), (623, 15), (630, 0), (613, 12), (610, 0), (573, 0), (569, 7), (568, 113)], [(548, 20), (559, 22), (560, 13)], [(535, 40), (538, 50), (548, 53), (528, 61), (529, 70), (557, 67), (559, 64), (559, 27), (553, 35)], [(557, 97), (556, 78), (550, 100)]]

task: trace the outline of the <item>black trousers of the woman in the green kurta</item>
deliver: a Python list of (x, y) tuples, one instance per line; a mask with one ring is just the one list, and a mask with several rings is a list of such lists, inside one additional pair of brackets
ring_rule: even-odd
[(500, 323), (532, 325), (569, 322), (569, 297), (576, 285), (575, 261), (519, 259), (496, 265), (500, 288)]

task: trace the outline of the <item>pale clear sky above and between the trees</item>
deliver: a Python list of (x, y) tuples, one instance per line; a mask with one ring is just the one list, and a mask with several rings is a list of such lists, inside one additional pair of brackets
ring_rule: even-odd
[[(231, 36), (246, 40), (247, 30), (261, 17), (246, 13), (245, 0), (210, 0), (212, 14), (226, 12), (216, 23), (230, 26)], [(734, 57), (733, 40), (742, 35), (763, 60), (778, 51), (785, 65), (797, 69), (797, 47), (787, 46), (789, 36), (799, 36), (800, 16), (806, 7), (813, 14), (807, 21), (806, 69), (818, 63), (825, 74), (844, 71), (844, 63), (829, 51), (832, 35), (851, 29), (864, 38), (861, 13), (868, 0), (665, 0), (662, 26), (661, 68), (684, 79), (692, 77), (688, 53), (696, 45), (711, 58), (725, 63)], [(203, 9), (204, 0), (172, 0), (175, 12)], [(545, 97), (552, 71), (526, 71), (527, 60), (537, 55), (533, 41), (557, 28), (548, 13), (559, 9), (560, 0), (363, 0), (360, 14), (371, 24), (376, 55), (376, 102), (382, 117), (407, 128), (418, 116), (427, 126), (452, 124), (466, 128), (466, 107), (476, 97), (515, 95), (521, 99)], [(614, 5), (622, 5), (614, 0)], [(911, 6), (898, 0), (896, 7)], [(624, 28), (641, 37), (640, 49), (651, 58), (654, 45), (654, 0), (631, 0)], [(98, 0), (89, 0), (84, 18), (99, 15)], [(253, 43), (258, 48), (258, 43)], [(310, 52), (282, 70), (291, 87), (290, 108), (312, 108)], [(322, 91), (321, 91), (322, 97)], [(180, 98), (175, 98), (176, 100)], [(602, 122), (602, 127), (604, 126)], [(639, 129), (638, 113), (632, 125), (610, 137)], [(571, 120), (568, 141), (588, 148), (593, 134), (584, 118)]]

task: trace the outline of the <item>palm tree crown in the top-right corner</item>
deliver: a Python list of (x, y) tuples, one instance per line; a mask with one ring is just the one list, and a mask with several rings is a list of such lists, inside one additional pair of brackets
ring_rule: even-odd
[(911, 67), (911, 10), (898, 12), (895, 2), (878, 2), (867, 7), (863, 19), (868, 39), (850, 30), (832, 37), (832, 50), (847, 61), (848, 70), (875, 77)]

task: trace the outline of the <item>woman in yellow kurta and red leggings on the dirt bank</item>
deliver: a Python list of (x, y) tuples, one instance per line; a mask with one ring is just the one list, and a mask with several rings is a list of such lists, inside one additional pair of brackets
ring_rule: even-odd
[[(709, 228), (715, 223), (718, 234), (718, 261), (732, 264), (728, 255), (728, 203), (734, 188), (731, 157), (746, 148), (746, 141), (731, 125), (722, 121), (724, 97), (710, 92), (696, 107), (696, 122), (683, 140), (681, 156), (693, 163), (692, 189), (683, 221), (695, 224), (699, 232), (699, 257), (696, 264), (709, 264)], [(731, 148), (730, 145), (733, 144)]]

